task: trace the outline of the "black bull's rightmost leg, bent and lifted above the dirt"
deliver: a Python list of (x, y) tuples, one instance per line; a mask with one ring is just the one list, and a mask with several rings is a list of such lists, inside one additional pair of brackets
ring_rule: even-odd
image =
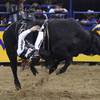
[(60, 69), (56, 72), (56, 74), (58, 75), (58, 74), (62, 74), (62, 73), (64, 73), (64, 72), (66, 72), (66, 70), (67, 70), (67, 68), (68, 68), (68, 66), (70, 65), (71, 62), (72, 62), (72, 57), (67, 57), (66, 60), (65, 60), (64, 66), (63, 66), (62, 68), (60, 68)]

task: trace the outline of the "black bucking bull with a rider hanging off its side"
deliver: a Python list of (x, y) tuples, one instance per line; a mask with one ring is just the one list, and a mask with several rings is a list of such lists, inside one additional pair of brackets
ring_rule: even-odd
[[(28, 23), (29, 21), (27, 21)], [(31, 23), (31, 24), (30, 24)], [(42, 25), (43, 22), (31, 21), (28, 28), (33, 25)], [(95, 33), (89, 33), (85, 31), (81, 25), (74, 19), (59, 19), (48, 21), (49, 32), (49, 52), (45, 57), (45, 53), (40, 49), (41, 58), (45, 59), (48, 64), (50, 62), (50, 70), (52, 73), (59, 64), (60, 61), (65, 61), (64, 66), (59, 69), (57, 74), (63, 73), (67, 70), (68, 66), (72, 62), (72, 58), (79, 53), (83, 54), (100, 54), (100, 40), (99, 36)], [(20, 21), (13, 23), (8, 27), (3, 35), (4, 44), (6, 46), (7, 55), (10, 59), (11, 69), (14, 75), (14, 83), (16, 89), (20, 89), (21, 85), (17, 76), (17, 37), (18, 30), (21, 26)], [(32, 37), (31, 37), (32, 38)], [(32, 38), (34, 40), (34, 38)], [(48, 45), (48, 44), (47, 44)], [(37, 70), (33, 66), (34, 62), (30, 65), (31, 71), (36, 75)], [(47, 64), (47, 65), (48, 65)]]

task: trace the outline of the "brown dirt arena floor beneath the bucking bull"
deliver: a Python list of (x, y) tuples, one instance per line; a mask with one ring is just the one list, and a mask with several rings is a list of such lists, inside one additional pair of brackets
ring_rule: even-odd
[(22, 89), (16, 91), (10, 67), (0, 67), (0, 100), (100, 100), (100, 66), (70, 65), (62, 75), (48, 75), (37, 66), (35, 77), (29, 69), (18, 76)]

